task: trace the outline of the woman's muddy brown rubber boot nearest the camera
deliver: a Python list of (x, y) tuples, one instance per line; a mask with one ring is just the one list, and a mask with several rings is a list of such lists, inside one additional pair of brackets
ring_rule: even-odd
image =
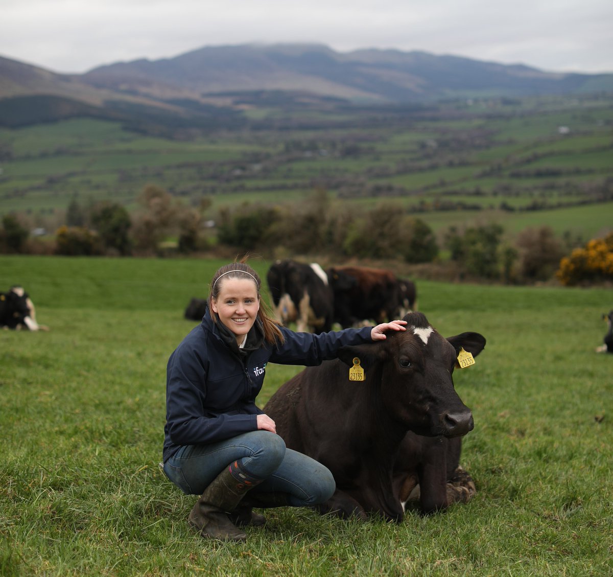
[(227, 512), (235, 511), (245, 493), (253, 486), (254, 483), (238, 481), (229, 468), (224, 467), (189, 513), (189, 525), (197, 529), (202, 537), (221, 541), (245, 541), (246, 533), (230, 521)]

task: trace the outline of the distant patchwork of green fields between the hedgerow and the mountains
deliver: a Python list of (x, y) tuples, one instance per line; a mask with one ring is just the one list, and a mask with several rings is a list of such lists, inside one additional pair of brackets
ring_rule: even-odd
[[(291, 126), (292, 114), (305, 128), (273, 128), (281, 120)], [(132, 210), (153, 183), (183, 202), (209, 197), (215, 219), (244, 202), (299, 203), (322, 186), (346, 210), (420, 205), (419, 217), (437, 230), (477, 219), (503, 222), (509, 234), (547, 224), (587, 238), (611, 226), (611, 203), (601, 204), (613, 199), (611, 97), (458, 102), (376, 122), (351, 110), (250, 115), (257, 130), (185, 142), (87, 119), (2, 129), (0, 215), (26, 212), (40, 222), (56, 213), (57, 221), (73, 198)], [(439, 212), (443, 201), (482, 208)], [(584, 201), (599, 204), (554, 208)], [(499, 210), (502, 203), (520, 209), (534, 202), (552, 208)]]

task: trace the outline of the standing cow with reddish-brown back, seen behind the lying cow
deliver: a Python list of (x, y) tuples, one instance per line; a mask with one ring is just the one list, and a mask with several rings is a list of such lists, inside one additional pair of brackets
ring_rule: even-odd
[(392, 271), (346, 266), (326, 272), (334, 294), (334, 319), (343, 329), (368, 319), (379, 324), (398, 317), (400, 284)]

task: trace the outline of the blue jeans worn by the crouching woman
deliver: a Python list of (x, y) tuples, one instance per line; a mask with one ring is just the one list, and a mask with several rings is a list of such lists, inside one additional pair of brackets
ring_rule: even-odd
[(200, 495), (224, 467), (238, 460), (262, 483), (257, 493), (285, 493), (290, 506), (312, 506), (332, 497), (332, 473), (311, 457), (287, 449), (279, 435), (257, 430), (208, 445), (185, 445), (164, 463), (164, 473), (181, 491)]

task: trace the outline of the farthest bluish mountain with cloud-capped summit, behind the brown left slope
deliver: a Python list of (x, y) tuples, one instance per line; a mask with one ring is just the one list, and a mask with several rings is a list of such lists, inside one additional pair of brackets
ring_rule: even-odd
[(98, 88), (166, 97), (245, 90), (308, 90), (352, 101), (414, 102), (454, 96), (526, 96), (594, 90), (613, 75), (555, 74), (457, 56), (399, 50), (338, 53), (317, 44), (204, 47), (170, 59), (102, 66)]

